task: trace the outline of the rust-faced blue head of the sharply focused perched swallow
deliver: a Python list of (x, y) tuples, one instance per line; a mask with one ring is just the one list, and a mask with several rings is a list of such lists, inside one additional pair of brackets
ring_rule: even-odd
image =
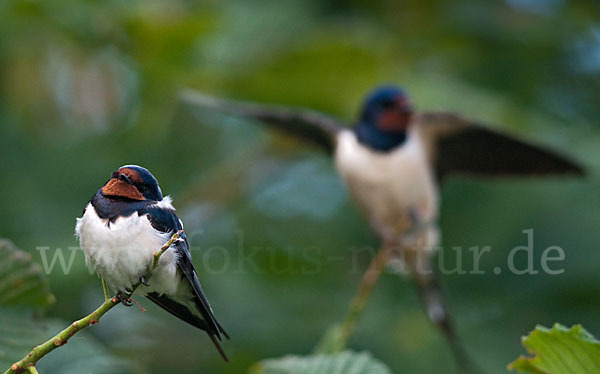
[(137, 165), (125, 165), (113, 171), (101, 190), (104, 196), (113, 198), (138, 201), (161, 201), (163, 198), (156, 178)]

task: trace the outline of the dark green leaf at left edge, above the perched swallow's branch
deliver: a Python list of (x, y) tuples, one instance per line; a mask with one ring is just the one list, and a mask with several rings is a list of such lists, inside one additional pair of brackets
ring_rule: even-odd
[(29, 253), (0, 239), (0, 306), (44, 307), (54, 302), (42, 268)]

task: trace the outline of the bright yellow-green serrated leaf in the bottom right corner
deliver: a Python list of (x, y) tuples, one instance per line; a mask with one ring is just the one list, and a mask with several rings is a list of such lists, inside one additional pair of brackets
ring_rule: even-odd
[(600, 373), (600, 341), (581, 325), (570, 329), (554, 324), (552, 329), (536, 326), (522, 338), (533, 357), (519, 357), (508, 368), (531, 374)]

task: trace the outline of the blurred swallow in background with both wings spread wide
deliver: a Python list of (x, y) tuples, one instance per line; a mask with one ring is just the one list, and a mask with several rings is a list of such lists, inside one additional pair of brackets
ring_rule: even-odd
[[(453, 332), (431, 265), (438, 246), (440, 184), (473, 176), (583, 175), (576, 163), (449, 112), (416, 113), (404, 90), (380, 87), (356, 124), (309, 109), (222, 100), (186, 91), (203, 108), (258, 120), (323, 148), (383, 248), (394, 248), (420, 291), (429, 318), (442, 330), (459, 365), (466, 357)], [(461, 364), (460, 361), (463, 361)]]

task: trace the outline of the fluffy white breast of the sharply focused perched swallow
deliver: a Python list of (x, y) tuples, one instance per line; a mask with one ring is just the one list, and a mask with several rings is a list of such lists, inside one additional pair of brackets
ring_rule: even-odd
[[(86, 261), (115, 291), (125, 291), (138, 283), (152, 261), (155, 251), (171, 237), (152, 227), (146, 215), (133, 213), (119, 217), (113, 223), (102, 219), (92, 204), (88, 204), (75, 228)], [(160, 258), (159, 267), (144, 292), (175, 294), (180, 277), (177, 274), (177, 253), (169, 248)]]

